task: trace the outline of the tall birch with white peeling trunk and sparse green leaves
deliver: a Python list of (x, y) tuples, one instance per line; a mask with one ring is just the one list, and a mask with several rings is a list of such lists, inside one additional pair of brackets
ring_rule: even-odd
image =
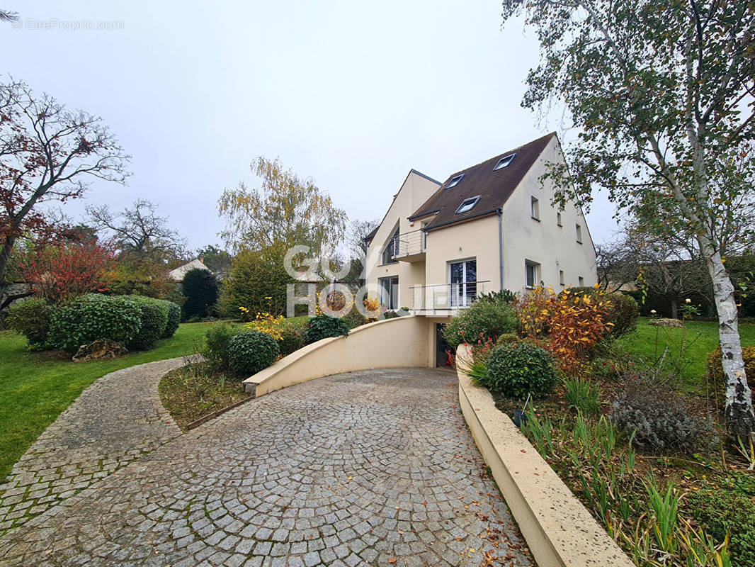
[(726, 424), (747, 438), (755, 415), (724, 255), (727, 227), (746, 221), (736, 203), (753, 198), (741, 179), (755, 164), (741, 160), (755, 140), (755, 5), (504, 0), (504, 23), (516, 14), (541, 43), (522, 105), (561, 102), (579, 132), (566, 148), (572, 175), (547, 174), (561, 202), (589, 203), (594, 185), (641, 222), (698, 241), (719, 318)]

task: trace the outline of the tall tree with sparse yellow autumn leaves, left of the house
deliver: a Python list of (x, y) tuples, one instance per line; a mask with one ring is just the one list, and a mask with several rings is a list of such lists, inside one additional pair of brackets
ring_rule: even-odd
[(227, 220), (221, 236), (230, 247), (263, 250), (304, 244), (319, 255), (344, 237), (346, 213), (313, 179), (301, 179), (279, 160), (263, 156), (251, 163), (251, 171), (262, 180), (259, 189), (242, 182), (223, 191), (217, 203)]

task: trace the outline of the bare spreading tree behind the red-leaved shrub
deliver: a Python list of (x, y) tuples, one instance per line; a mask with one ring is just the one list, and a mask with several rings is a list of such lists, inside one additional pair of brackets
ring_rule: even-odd
[(186, 241), (168, 227), (156, 203), (137, 199), (131, 209), (114, 213), (106, 205), (88, 206), (87, 213), (98, 231), (105, 231), (122, 254), (153, 259), (181, 257)]

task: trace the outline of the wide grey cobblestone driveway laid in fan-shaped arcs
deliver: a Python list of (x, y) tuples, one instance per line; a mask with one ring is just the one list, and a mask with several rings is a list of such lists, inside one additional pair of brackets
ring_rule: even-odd
[(5, 533), (0, 565), (531, 565), (451, 373), (328, 376), (173, 437)]

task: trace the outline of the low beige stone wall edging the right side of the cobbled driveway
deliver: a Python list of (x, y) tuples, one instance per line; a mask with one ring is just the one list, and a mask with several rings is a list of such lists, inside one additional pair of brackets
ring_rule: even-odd
[[(462, 364), (471, 360), (470, 347), (460, 345), (457, 353)], [(490, 392), (457, 373), (461, 413), (538, 565), (633, 567)]]

